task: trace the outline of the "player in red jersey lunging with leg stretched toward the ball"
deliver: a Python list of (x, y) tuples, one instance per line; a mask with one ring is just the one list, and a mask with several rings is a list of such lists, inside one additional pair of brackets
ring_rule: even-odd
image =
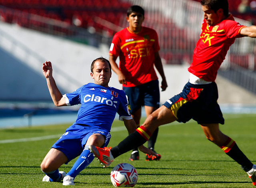
[[(142, 145), (154, 130), (173, 121), (187, 122), (194, 119), (202, 127), (206, 138), (242, 166), (256, 185), (256, 165), (242, 153), (236, 142), (222, 133), (219, 123), (224, 124), (217, 103), (218, 90), (215, 83), (217, 71), (226, 53), (238, 37), (256, 37), (256, 26), (246, 27), (234, 21), (228, 13), (228, 0), (201, 0), (204, 12), (202, 33), (194, 49), (193, 62), (188, 68), (189, 82), (183, 91), (168, 99), (154, 111), (136, 131), (112, 149), (89, 146), (94, 155), (109, 166), (114, 158)], [(102, 159), (102, 156), (107, 159)]]

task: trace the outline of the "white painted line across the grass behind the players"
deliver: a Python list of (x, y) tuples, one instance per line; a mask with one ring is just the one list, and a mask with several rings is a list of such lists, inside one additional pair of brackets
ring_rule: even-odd
[[(241, 115), (242, 116), (242, 115)], [(229, 117), (229, 118), (225, 118), (225, 119), (235, 119), (235, 118), (239, 118), (240, 116), (236, 116), (236, 117)], [(188, 123), (194, 123), (195, 121), (188, 121), (186, 124)], [(168, 123), (166, 125), (162, 125), (161, 127), (165, 127), (165, 126), (171, 126), (171, 125), (178, 125), (180, 124), (178, 121), (174, 121), (172, 123)], [(111, 129), (111, 132), (118, 132), (118, 131), (123, 131), (126, 130), (125, 126), (121, 126), (121, 127), (113, 127)], [(22, 138), (22, 139), (10, 139), (10, 140), (0, 140), (0, 144), (4, 144), (4, 143), (17, 143), (17, 142), (28, 142), (28, 141), (38, 141), (38, 140), (47, 140), (47, 139), (53, 139), (53, 138), (59, 138), (61, 137), (61, 134), (59, 135), (48, 135), (48, 136), (42, 136), (42, 137), (33, 137), (33, 138)]]

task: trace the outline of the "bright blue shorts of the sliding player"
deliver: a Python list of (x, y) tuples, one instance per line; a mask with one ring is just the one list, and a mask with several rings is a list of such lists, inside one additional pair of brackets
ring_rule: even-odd
[[(103, 135), (106, 140), (103, 147), (106, 147), (110, 141), (110, 133), (103, 129), (90, 127), (88, 125), (74, 124), (66, 129), (66, 132), (52, 145), (52, 148), (62, 151), (68, 158), (68, 162), (78, 157), (86, 144), (90, 135), (99, 133)], [(65, 163), (65, 164), (68, 164)]]

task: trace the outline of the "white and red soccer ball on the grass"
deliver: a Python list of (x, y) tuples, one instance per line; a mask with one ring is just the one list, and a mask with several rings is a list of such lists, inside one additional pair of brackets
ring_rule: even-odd
[(134, 166), (120, 163), (112, 169), (110, 179), (115, 187), (133, 187), (138, 180), (138, 173)]

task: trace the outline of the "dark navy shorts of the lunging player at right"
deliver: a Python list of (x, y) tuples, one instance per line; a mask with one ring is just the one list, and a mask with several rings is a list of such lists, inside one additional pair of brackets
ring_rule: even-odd
[(224, 118), (217, 103), (218, 88), (215, 82), (210, 84), (191, 84), (188, 82), (182, 92), (163, 105), (170, 108), (178, 122), (186, 123), (194, 119), (198, 124), (220, 123)]

